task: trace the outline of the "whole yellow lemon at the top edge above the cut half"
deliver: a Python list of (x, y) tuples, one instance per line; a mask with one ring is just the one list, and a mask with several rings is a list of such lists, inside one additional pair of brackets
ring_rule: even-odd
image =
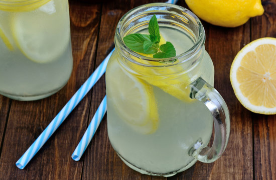
[(250, 17), (263, 14), (260, 0), (185, 0), (201, 19), (224, 27), (244, 24)]

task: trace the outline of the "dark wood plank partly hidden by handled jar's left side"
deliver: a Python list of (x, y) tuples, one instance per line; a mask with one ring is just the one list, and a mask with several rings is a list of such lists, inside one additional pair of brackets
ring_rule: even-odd
[[(133, 7), (149, 2), (154, 2), (154, 0), (116, 0), (103, 3), (96, 66), (105, 58), (114, 42), (115, 27), (121, 16)], [(103, 77), (93, 88), (89, 121), (104, 95), (105, 79)], [(166, 177), (144, 175), (125, 165), (109, 143), (105, 116), (86, 149), (82, 179), (157, 180), (166, 179)]]

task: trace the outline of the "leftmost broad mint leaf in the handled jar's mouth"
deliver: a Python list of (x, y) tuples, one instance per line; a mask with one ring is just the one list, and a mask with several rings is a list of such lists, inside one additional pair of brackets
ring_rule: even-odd
[(150, 35), (148, 34), (133, 33), (133, 34), (124, 36), (123, 41), (125, 45), (131, 50), (135, 52), (145, 53), (144, 42), (151, 41), (151, 39), (150, 39)]

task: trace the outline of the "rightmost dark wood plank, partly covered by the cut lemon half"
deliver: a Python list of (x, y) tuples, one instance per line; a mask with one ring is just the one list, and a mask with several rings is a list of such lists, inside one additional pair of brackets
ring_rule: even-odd
[[(276, 37), (276, 0), (263, 0), (264, 14), (252, 18), (251, 39)], [(276, 115), (252, 113), (255, 179), (276, 179)]]

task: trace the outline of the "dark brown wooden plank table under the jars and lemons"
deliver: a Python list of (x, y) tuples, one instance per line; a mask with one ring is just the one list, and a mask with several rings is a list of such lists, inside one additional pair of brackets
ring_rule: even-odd
[[(264, 14), (236, 28), (203, 21), (206, 50), (215, 67), (215, 88), (228, 104), (231, 117), (228, 146), (214, 163), (196, 162), (168, 178), (140, 174), (126, 166), (111, 147), (106, 116), (82, 158), (74, 161), (71, 154), (105, 95), (103, 76), (29, 164), (23, 170), (15, 165), (110, 51), (120, 17), (153, 1), (158, 0), (69, 1), (74, 68), (67, 85), (36, 101), (0, 95), (0, 179), (276, 179), (276, 116), (245, 109), (229, 79), (232, 60), (245, 44), (260, 37), (276, 37), (276, 0), (262, 1)], [(184, 0), (178, 4), (187, 7)]]

